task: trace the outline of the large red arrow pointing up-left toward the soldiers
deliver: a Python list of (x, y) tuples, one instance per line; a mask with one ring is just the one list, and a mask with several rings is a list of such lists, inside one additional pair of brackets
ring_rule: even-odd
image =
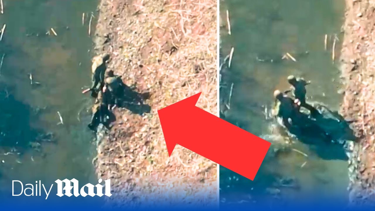
[(271, 143), (196, 107), (201, 93), (157, 111), (169, 157), (179, 144), (254, 180)]

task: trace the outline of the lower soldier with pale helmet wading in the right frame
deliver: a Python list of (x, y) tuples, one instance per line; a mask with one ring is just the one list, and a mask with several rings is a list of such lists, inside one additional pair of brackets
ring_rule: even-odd
[(284, 95), (280, 90), (273, 92), (275, 97), (275, 107), (273, 109), (274, 116), (280, 116), (282, 118), (285, 127), (290, 128), (289, 118), (293, 121), (296, 120), (299, 114), (299, 105), (295, 104), (293, 99)]

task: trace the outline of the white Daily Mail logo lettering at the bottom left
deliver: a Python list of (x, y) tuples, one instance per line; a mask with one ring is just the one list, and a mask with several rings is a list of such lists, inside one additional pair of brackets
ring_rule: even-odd
[[(20, 185), (18, 185), (18, 186), (21, 187), (21, 192), (19, 194), (15, 194), (14, 187), (15, 187), (15, 184), (17, 185), (17, 183), (15, 183), (15, 182), (20, 184)], [(57, 194), (56, 195), (60, 196), (60, 197), (62, 197), (64, 195), (68, 196), (68, 197), (71, 197), (71, 196), (75, 196), (75, 197), (78, 197), (78, 196), (83, 196), (83, 197), (99, 196), (99, 197), (102, 197), (104, 195), (108, 196), (108, 197), (112, 196), (112, 194), (111, 194), (111, 179), (105, 180), (104, 185), (100, 184), (102, 182), (102, 179), (99, 179), (99, 181), (98, 181), (99, 183), (96, 184), (96, 185), (87, 183), (86, 185), (81, 187), (80, 191), (78, 191), (79, 186), (78, 186), (78, 180), (77, 179), (70, 179), (70, 180), (69, 179), (64, 179), (64, 180), (57, 179), (55, 182), (57, 184)], [(48, 196), (49, 196), (49, 194), (52, 190), (52, 186), (53, 186), (53, 184), (49, 188), (46, 188), (46, 186), (44, 184), (42, 184), (40, 180), (39, 180), (39, 182), (35, 181), (35, 185), (25, 184), (25, 186), (19, 180), (12, 180), (12, 196), (21, 196), (22, 194), (24, 194), (25, 196), (42, 196), (42, 188), (43, 188), (43, 191), (44, 191), (45, 196), (46, 196), (45, 199), (48, 199)], [(88, 189), (87, 193), (84, 190), (85, 187), (87, 187), (87, 189)], [(105, 188), (104, 193), (103, 193), (103, 188)], [(72, 190), (73, 190), (73, 193), (72, 193)]]

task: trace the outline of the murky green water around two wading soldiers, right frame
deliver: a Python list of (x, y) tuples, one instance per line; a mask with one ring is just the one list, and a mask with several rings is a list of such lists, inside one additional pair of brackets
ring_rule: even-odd
[[(273, 104), (275, 89), (288, 89), (287, 77), (294, 74), (311, 80), (308, 101), (321, 102), (338, 110), (339, 69), (332, 62), (332, 43), (325, 34), (337, 34), (344, 17), (344, 2), (339, 0), (233, 0), (220, 2), (222, 20), (229, 10), (232, 35), (220, 30), (223, 52), (234, 47), (229, 81), (234, 84), (231, 109), (226, 116), (233, 124), (273, 143), (254, 181), (220, 167), (220, 200), (224, 203), (286, 203), (330, 200), (346, 202), (348, 163), (341, 146), (314, 146), (288, 138), (284, 129), (266, 120), (264, 107)], [(341, 43), (336, 43), (336, 58)], [(309, 51), (308, 54), (303, 54)], [(277, 59), (289, 52), (297, 59)], [(275, 59), (273, 63), (258, 59)], [(314, 140), (313, 140), (314, 141)], [(319, 141), (319, 140), (317, 140)], [(293, 142), (289, 145), (286, 142)], [(275, 156), (283, 146), (297, 149)], [(306, 163), (305, 163), (306, 162)], [(305, 164), (304, 164), (305, 163)], [(304, 164), (304, 165), (303, 165)], [(246, 166), (246, 163), (243, 164)], [(301, 167), (303, 166), (303, 167)], [(275, 185), (278, 178), (295, 178), (299, 188)], [(267, 188), (278, 188), (268, 189)], [(279, 191), (276, 196), (272, 192)]]

